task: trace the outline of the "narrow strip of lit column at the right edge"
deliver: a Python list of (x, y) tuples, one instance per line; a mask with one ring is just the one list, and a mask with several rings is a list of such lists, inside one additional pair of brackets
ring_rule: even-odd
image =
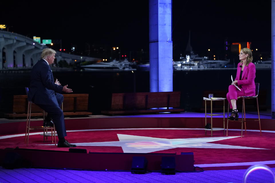
[(275, 119), (275, 2), (271, 1), (271, 119)]

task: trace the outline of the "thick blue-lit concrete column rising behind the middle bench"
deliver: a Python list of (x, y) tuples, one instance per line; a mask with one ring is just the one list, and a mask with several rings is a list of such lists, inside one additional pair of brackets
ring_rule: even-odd
[(150, 0), (150, 92), (173, 91), (171, 28), (172, 0)]

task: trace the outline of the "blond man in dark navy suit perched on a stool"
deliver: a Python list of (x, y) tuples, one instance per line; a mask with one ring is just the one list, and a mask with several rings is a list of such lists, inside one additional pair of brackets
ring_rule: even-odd
[(56, 127), (58, 135), (58, 147), (76, 147), (76, 145), (70, 144), (65, 140), (66, 128), (64, 123), (64, 114), (61, 109), (63, 102), (62, 91), (66, 93), (72, 93), (72, 89), (67, 88), (68, 85), (61, 86), (57, 81), (54, 82), (52, 70), (50, 64), (54, 62), (55, 53), (53, 49), (43, 49), (41, 54), (41, 60), (38, 61), (31, 72), (31, 82), (28, 93), (28, 100), (34, 102), (40, 108), (48, 113), (44, 121), (44, 126)]

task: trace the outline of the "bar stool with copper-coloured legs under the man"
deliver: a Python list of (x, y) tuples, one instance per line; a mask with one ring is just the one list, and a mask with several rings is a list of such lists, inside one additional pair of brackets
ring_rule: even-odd
[[(29, 88), (25, 87), (25, 90), (26, 90), (26, 93), (28, 96)], [(45, 136), (46, 136), (45, 131), (46, 131), (46, 134), (48, 134), (48, 130), (51, 130), (52, 143), (55, 143), (55, 146), (56, 146), (55, 126), (53, 126), (53, 127), (51, 127), (51, 126), (30, 126), (32, 104), (34, 104), (32, 101), (28, 101), (28, 114), (27, 114), (26, 132), (25, 132), (25, 143), (27, 144), (27, 146), (29, 145), (30, 130), (43, 129), (44, 142), (45, 142)], [(43, 120), (44, 119), (45, 119), (45, 111), (43, 110)], [(53, 137), (53, 133), (54, 133), (54, 137)], [(46, 138), (48, 138), (48, 137), (46, 137)]]

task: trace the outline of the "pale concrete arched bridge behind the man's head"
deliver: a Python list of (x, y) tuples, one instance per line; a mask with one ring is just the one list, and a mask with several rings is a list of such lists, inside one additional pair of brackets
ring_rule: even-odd
[[(0, 69), (31, 68), (40, 60), (44, 48), (48, 47), (29, 37), (0, 30)], [(56, 51), (55, 57), (57, 63), (60, 60), (66, 60), (67, 63), (101, 60), (100, 58), (73, 55), (60, 51)]]

